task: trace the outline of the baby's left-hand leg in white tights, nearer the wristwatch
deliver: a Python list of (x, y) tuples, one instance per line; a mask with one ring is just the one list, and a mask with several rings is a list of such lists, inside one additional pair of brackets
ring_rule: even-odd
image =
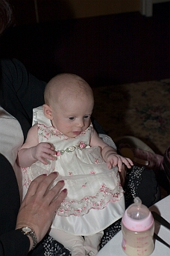
[(86, 251), (84, 249), (84, 238), (81, 236), (75, 236), (55, 228), (51, 228), (49, 233), (51, 237), (61, 243), (66, 249), (68, 249), (72, 256), (85, 256)]

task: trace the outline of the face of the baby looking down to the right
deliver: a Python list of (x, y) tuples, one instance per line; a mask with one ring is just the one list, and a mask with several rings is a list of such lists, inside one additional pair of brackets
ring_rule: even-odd
[(92, 109), (92, 97), (69, 98), (52, 109), (52, 124), (64, 135), (75, 138), (89, 127)]

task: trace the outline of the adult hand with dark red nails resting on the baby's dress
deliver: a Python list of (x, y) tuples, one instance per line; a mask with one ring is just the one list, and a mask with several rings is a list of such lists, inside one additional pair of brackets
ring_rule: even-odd
[[(33, 180), (19, 209), (16, 229), (27, 226), (32, 228), (38, 243), (47, 233), (54, 219), (55, 211), (67, 195), (66, 189), (61, 190), (64, 186), (63, 180), (59, 181), (52, 189), (48, 189), (57, 175), (57, 172), (48, 176), (42, 174)], [(31, 241), (30, 250), (32, 247), (33, 242)]]

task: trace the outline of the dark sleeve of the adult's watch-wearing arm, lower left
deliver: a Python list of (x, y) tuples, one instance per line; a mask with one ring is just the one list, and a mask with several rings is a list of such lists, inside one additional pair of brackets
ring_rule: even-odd
[(42, 256), (40, 243), (28, 254), (30, 242), (21, 231), (15, 230), (20, 207), (19, 188), (10, 162), (0, 153), (0, 255)]

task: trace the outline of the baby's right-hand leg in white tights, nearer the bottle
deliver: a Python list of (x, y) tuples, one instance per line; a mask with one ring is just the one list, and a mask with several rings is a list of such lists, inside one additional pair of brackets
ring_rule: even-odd
[(91, 236), (84, 237), (84, 248), (86, 249), (86, 255), (97, 255), (99, 250), (99, 244), (101, 243), (101, 237), (103, 237), (103, 235), (104, 232), (101, 231)]

